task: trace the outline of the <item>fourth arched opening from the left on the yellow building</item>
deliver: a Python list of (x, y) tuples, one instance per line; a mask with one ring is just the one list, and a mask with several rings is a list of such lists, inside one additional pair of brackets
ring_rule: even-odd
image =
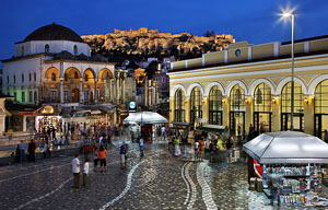
[(245, 90), (239, 84), (230, 92), (230, 131), (232, 136), (245, 135)]

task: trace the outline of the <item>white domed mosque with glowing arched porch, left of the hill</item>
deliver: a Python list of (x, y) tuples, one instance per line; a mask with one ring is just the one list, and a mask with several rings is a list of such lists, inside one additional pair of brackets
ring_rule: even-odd
[[(39, 115), (37, 122), (45, 114), (56, 115), (47, 117), (51, 124), (61, 121), (65, 109), (71, 114), (74, 109), (101, 109), (108, 113), (104, 122), (116, 124), (119, 116), (113, 110), (124, 109), (132, 97), (131, 91), (126, 94), (129, 80), (125, 70), (116, 70), (115, 63), (102, 56), (91, 56), (89, 45), (77, 33), (56, 23), (15, 43), (15, 55), (2, 60), (2, 69), (3, 93), (21, 104), (42, 106), (34, 112)], [(43, 109), (45, 106), (52, 108)]]

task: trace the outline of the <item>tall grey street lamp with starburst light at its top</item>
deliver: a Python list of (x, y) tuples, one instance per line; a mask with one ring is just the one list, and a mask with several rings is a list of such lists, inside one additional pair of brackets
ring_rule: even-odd
[(292, 18), (292, 113), (291, 113), (291, 131), (294, 130), (294, 27), (295, 27), (295, 13), (283, 12), (283, 18)]

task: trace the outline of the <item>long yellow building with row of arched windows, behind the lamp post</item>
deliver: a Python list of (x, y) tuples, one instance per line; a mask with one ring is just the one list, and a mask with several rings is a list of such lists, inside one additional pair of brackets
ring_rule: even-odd
[[(235, 135), (291, 127), (291, 43), (231, 44), (173, 62), (169, 119), (225, 125)], [(295, 42), (294, 130), (328, 130), (328, 36)]]

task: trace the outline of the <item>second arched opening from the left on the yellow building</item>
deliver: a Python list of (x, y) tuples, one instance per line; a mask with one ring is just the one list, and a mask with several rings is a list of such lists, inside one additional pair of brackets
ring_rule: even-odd
[(195, 126), (197, 118), (202, 118), (201, 91), (199, 88), (194, 88), (190, 94), (190, 124)]

